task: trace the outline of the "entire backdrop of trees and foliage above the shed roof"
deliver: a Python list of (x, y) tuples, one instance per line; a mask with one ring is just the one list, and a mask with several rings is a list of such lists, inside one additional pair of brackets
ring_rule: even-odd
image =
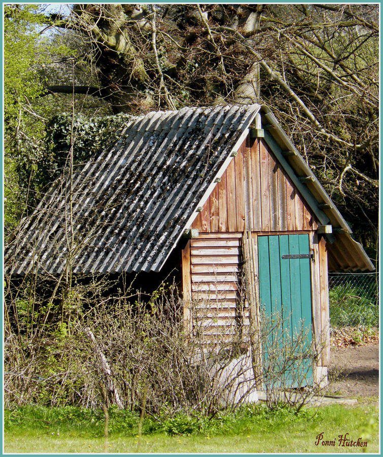
[(372, 254), (378, 15), (367, 4), (6, 5), (7, 230), (66, 166), (73, 132), (80, 163), (125, 113), (258, 102)]

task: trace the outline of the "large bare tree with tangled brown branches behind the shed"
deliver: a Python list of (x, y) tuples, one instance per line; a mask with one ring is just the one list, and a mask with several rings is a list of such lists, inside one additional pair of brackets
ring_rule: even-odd
[(376, 241), (376, 5), (77, 4), (54, 19), (82, 37), (75, 92), (114, 113), (269, 105), (358, 236)]

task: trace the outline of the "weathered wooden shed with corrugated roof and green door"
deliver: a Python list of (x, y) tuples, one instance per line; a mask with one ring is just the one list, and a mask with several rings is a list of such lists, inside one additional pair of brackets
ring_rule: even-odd
[(58, 180), (22, 222), (7, 248), (8, 273), (62, 274), (70, 264), (82, 275), (161, 275), (179, 251), (189, 332), (192, 302), (208, 304), (207, 337), (227, 334), (238, 303), (245, 324), (260, 306), (283, 306), (313, 338), (325, 336), (317, 375), (326, 376), (328, 271), (374, 267), (268, 107), (132, 116), (113, 147), (76, 172), (72, 193), (69, 185)]

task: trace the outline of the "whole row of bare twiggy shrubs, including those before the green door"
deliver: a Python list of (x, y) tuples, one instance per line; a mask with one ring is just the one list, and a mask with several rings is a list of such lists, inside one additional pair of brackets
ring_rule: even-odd
[[(126, 287), (107, 298), (100, 284), (73, 286), (55, 315), (51, 308), (49, 319), (35, 322), (34, 333), (27, 326), (15, 331), (15, 303), (7, 303), (6, 407), (116, 404), (139, 411), (145, 393), (151, 415), (211, 416), (257, 400), (260, 386), (269, 407), (281, 401), (301, 406), (315, 391), (309, 370), (317, 351), (307, 346), (303, 325), (289, 340), (280, 316), (261, 315), (260, 328), (251, 320), (246, 325), (233, 320), (226, 336), (209, 340), (198, 331), (204, 325), (201, 303), (188, 305), (194, 332), (186, 331), (184, 302), (174, 284), (163, 284), (149, 297)], [(261, 342), (261, 371), (254, 341)]]

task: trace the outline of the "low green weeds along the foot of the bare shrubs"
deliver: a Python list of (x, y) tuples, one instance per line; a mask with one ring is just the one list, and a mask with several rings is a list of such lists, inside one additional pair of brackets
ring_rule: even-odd
[[(172, 416), (162, 414), (158, 417), (148, 416), (144, 419), (145, 435), (164, 433), (169, 436), (188, 435), (236, 435), (245, 429), (254, 429), (262, 423), (269, 429), (281, 423), (302, 422), (313, 417), (310, 410), (297, 411), (294, 408), (270, 410), (265, 404), (242, 406), (237, 411), (222, 410), (214, 416), (194, 413), (193, 415), (178, 412)], [(28, 427), (31, 423), (37, 428), (59, 428), (61, 432), (77, 431), (88, 436), (97, 437), (104, 433), (104, 414), (101, 409), (78, 408), (74, 406), (50, 407), (29, 405), (16, 409), (7, 409), (4, 414), (4, 427), (7, 430), (17, 427)], [(139, 413), (119, 410), (116, 406), (109, 408), (109, 434), (136, 436)]]

